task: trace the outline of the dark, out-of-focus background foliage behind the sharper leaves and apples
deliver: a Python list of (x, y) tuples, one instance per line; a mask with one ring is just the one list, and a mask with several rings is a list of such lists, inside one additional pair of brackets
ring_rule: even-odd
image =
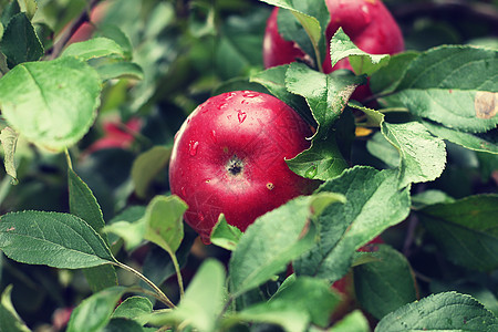
[[(120, 40), (144, 72), (143, 80), (125, 77), (105, 84), (95, 125), (70, 151), (76, 173), (94, 191), (107, 224), (120, 220), (125, 208), (145, 206), (154, 195), (168, 191), (167, 159), (144, 178), (141, 174), (146, 170), (136, 168), (137, 158), (154, 146), (170, 147), (176, 131), (198, 104), (215, 92), (251, 86), (247, 82), (249, 74), (263, 69), (262, 37), (271, 7), (257, 0), (37, 2), (33, 23), (46, 59), (56, 52), (58, 42), (73, 27), (91, 18), (93, 35)], [(0, 10), (8, 3), (0, 0)], [(455, 43), (498, 48), (497, 0), (386, 0), (385, 3), (402, 28), (407, 50)], [(94, 4), (98, 13), (91, 12)], [(96, 148), (95, 143), (104, 137), (121, 143)], [(355, 163), (385, 166), (367, 153), (365, 142), (359, 139), (353, 148)], [(69, 210), (65, 156), (40, 151), (21, 139), (17, 164), (15, 186), (0, 170), (1, 214)], [(494, 155), (448, 144), (448, 166), (443, 176), (413, 190), (416, 194), (439, 189), (454, 198), (496, 191), (497, 165)], [(479, 299), (488, 301), (489, 308), (498, 312), (492, 307), (498, 276), (489, 278), (455, 267), (434, 255), (434, 243), (417, 231), (411, 232), (413, 238), (407, 246), (405, 235), (409, 227), (413, 227), (409, 222), (402, 224), (384, 238), (404, 252), (419, 272), (422, 293), (447, 289), (481, 292)], [(173, 274), (172, 266), (162, 250), (147, 243), (129, 251), (115, 243), (114, 249), (122, 261), (142, 267), (155, 282), (164, 281), (166, 292), (175, 298), (175, 280), (167, 279)], [(221, 249), (200, 245), (190, 230), (178, 252), (187, 282), (204, 258), (215, 256), (222, 261), (228, 258)], [(74, 307), (91, 293), (79, 271), (24, 266), (6, 257), (0, 257), (0, 290), (13, 284), (15, 309), (30, 328), (39, 331), (56, 330), (54, 320), (63, 314), (61, 310)], [(126, 273), (120, 278), (124, 284), (132, 283)]]

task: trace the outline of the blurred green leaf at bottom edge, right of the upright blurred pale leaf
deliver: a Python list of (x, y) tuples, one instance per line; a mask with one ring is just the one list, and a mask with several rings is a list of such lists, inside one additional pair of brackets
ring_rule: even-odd
[(268, 302), (257, 303), (229, 315), (225, 323), (272, 323), (286, 331), (307, 331), (310, 323), (326, 326), (339, 302), (339, 295), (329, 284), (322, 280), (301, 277), (279, 290)]

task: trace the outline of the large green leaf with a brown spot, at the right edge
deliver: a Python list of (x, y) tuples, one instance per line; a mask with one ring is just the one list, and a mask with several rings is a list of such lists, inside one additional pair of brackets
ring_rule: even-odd
[(422, 53), (395, 92), (415, 115), (446, 127), (483, 133), (495, 128), (498, 51), (444, 45)]

